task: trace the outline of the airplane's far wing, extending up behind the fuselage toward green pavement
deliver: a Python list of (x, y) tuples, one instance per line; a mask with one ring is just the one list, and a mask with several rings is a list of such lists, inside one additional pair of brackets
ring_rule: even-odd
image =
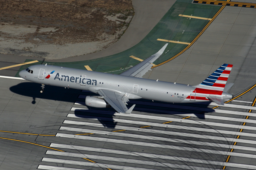
[(140, 62), (139, 64), (135, 65), (134, 67), (126, 70), (125, 72), (121, 73), (120, 75), (123, 76), (130, 76), (130, 77), (139, 77), (142, 78), (148, 70), (153, 66), (153, 62), (163, 54), (163, 51), (166, 49), (168, 43), (164, 45), (156, 54), (148, 57), (144, 61)]

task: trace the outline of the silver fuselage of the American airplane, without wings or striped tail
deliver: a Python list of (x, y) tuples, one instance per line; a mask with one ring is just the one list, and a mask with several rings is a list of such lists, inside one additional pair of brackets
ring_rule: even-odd
[[(100, 89), (106, 89), (125, 94), (129, 99), (143, 98), (173, 103), (199, 102), (186, 99), (195, 90), (195, 87), (190, 85), (52, 65), (33, 65), (29, 69), (33, 73), (23, 70), (20, 71), (20, 77), (44, 85), (87, 90), (93, 93), (97, 93)], [(52, 73), (52, 71), (54, 72)], [(46, 78), (47, 76), (49, 78)], [(223, 99), (232, 98), (232, 95), (227, 93), (223, 93), (222, 96)], [(184, 99), (186, 100), (184, 101)]]

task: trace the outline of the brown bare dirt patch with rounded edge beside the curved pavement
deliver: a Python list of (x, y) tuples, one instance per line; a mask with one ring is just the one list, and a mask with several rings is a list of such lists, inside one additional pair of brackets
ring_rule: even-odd
[[(134, 15), (131, 0), (0, 0), (0, 8), (0, 53), (19, 51), (48, 59), (108, 47), (122, 36)], [(82, 51), (73, 50), (83, 43)], [(70, 50), (70, 56), (43, 49), (47, 45)]]

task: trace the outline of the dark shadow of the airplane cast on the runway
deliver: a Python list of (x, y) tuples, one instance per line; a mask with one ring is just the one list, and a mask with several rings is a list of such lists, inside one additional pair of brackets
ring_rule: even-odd
[[(41, 94), (41, 85), (33, 82), (20, 83), (18, 85), (12, 86), (10, 90), (15, 94), (31, 97), (32, 104), (35, 104), (37, 102), (37, 99), (49, 99), (62, 102), (75, 102), (78, 99), (79, 94), (81, 94), (81, 90), (65, 89), (62, 87), (56, 87), (51, 85), (46, 85), (44, 93)], [(26, 98), (26, 101), (29, 101), (29, 98)], [(161, 115), (173, 114), (177, 116), (181, 116), (181, 114), (182, 116), (186, 116), (187, 113), (188, 115), (193, 114), (193, 116), (197, 116), (199, 119), (205, 119), (204, 113), (214, 112), (213, 109), (207, 108), (208, 105), (198, 105), (197, 103), (172, 104), (166, 102), (152, 102), (151, 100), (139, 99), (131, 100), (130, 102), (128, 102), (128, 108), (130, 108), (133, 104), (136, 104), (134, 111), (155, 113)], [(189, 106), (203, 106), (206, 111), (204, 112), (193, 110), (193, 107), (191, 108)], [(101, 124), (104, 127), (108, 128), (114, 128), (118, 123), (115, 122), (113, 119), (115, 117), (114, 114), (116, 113), (116, 111), (113, 108), (87, 108), (88, 110), (76, 109), (74, 113), (77, 117), (81, 117), (84, 119), (97, 119), (99, 122), (101, 122)], [(124, 113), (123, 116), (125, 115), (126, 114)]]

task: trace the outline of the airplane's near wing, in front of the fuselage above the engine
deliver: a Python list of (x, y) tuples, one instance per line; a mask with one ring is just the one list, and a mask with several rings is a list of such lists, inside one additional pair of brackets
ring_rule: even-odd
[(108, 91), (108, 90), (99, 90), (98, 94), (103, 96), (103, 99), (108, 102), (118, 113), (131, 113), (135, 105), (133, 105), (129, 110), (126, 107), (128, 97), (124, 94)]

